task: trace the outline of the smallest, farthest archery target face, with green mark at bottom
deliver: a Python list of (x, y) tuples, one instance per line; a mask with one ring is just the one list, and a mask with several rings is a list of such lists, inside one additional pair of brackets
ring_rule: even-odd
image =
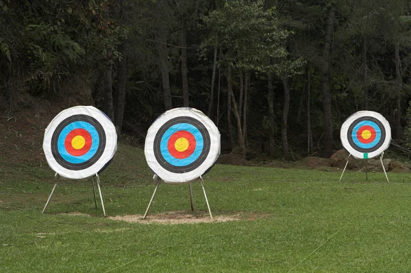
[(377, 112), (356, 112), (343, 123), (340, 138), (344, 148), (353, 157), (373, 158), (390, 146), (390, 123)]

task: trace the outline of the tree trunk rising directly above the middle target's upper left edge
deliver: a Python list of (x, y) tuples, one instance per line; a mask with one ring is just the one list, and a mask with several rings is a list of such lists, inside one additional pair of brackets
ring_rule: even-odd
[(170, 78), (169, 78), (169, 49), (167, 48), (167, 36), (164, 29), (160, 31), (158, 37), (158, 55), (159, 55), (159, 66), (162, 77), (162, 87), (163, 87), (163, 97), (164, 97), (164, 109), (169, 110), (172, 108), (171, 104), (171, 89), (170, 89)]

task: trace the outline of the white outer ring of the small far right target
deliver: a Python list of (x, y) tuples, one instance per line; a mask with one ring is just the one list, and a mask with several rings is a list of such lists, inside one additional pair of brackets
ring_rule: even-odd
[(382, 125), (384, 126), (384, 128), (386, 130), (386, 139), (384, 140), (382, 146), (377, 148), (377, 150), (375, 150), (371, 153), (368, 153), (368, 158), (370, 159), (370, 158), (373, 158), (373, 157), (377, 157), (378, 155), (381, 155), (381, 153), (386, 151), (388, 146), (390, 146), (391, 127), (390, 127), (390, 123), (388, 122), (388, 120), (386, 120), (386, 118), (384, 118), (384, 116), (382, 116), (382, 114), (379, 114), (377, 112), (358, 111), (358, 112), (352, 114), (351, 116), (349, 116), (347, 118), (347, 120), (345, 120), (343, 125), (341, 126), (341, 131), (340, 131), (341, 143), (343, 143), (343, 146), (348, 151), (348, 153), (350, 153), (353, 157), (356, 157), (358, 159), (364, 159), (364, 153), (362, 153), (360, 151), (357, 151), (355, 148), (353, 148), (349, 144), (348, 138), (347, 138), (347, 133), (348, 133), (348, 129), (349, 129), (349, 126), (351, 125), (351, 123), (354, 120), (356, 120), (357, 118), (361, 118), (362, 116), (372, 116), (373, 118), (377, 118), (377, 120), (379, 120), (382, 123)]

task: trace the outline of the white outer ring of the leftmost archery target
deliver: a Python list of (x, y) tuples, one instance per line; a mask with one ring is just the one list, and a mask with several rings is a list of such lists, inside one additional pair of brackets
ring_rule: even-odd
[[(84, 170), (69, 170), (55, 161), (53, 154), (51, 153), (51, 138), (53, 136), (53, 132), (63, 120), (69, 118), (69, 116), (79, 114), (91, 116), (92, 118), (95, 118), (98, 122), (100, 122), (105, 132), (105, 148), (99, 160), (97, 160), (97, 162), (92, 166)], [(108, 116), (105, 116), (103, 112), (95, 107), (71, 107), (60, 112), (57, 116), (55, 116), (55, 118), (53, 118), (53, 120), (51, 120), (49, 126), (47, 126), (47, 129), (45, 131), (45, 138), (43, 140), (43, 150), (45, 151), (45, 157), (50, 168), (57, 172), (60, 176), (69, 179), (86, 179), (97, 174), (102, 168), (104, 168), (105, 164), (107, 164), (108, 161), (110, 161), (114, 157), (114, 154), (117, 150), (116, 128), (114, 127), (110, 118), (108, 118)]]

